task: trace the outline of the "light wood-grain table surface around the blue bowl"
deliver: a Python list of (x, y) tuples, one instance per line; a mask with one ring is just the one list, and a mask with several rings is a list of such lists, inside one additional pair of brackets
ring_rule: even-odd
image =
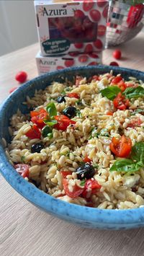
[[(144, 34), (119, 47), (120, 66), (144, 71)], [(112, 49), (105, 50), (103, 63), (114, 61)], [(9, 89), (17, 86), (14, 75), (27, 71), (37, 76), (35, 55), (39, 45), (30, 45), (0, 57), (0, 103)], [(141, 256), (144, 255), (143, 229), (101, 231), (81, 229), (53, 218), (32, 206), (0, 176), (0, 255), (1, 256)]]

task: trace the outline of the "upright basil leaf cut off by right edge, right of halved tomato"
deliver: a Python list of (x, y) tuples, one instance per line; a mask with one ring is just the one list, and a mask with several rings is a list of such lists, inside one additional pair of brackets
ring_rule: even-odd
[(144, 142), (137, 142), (134, 146), (132, 146), (132, 152), (130, 157), (137, 162), (143, 163), (144, 166)]

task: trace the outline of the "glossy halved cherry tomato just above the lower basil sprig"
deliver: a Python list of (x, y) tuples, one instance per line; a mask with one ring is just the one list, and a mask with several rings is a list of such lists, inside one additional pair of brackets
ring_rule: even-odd
[(130, 151), (132, 149), (132, 141), (124, 135), (121, 138), (113, 137), (109, 146), (112, 153), (116, 156), (127, 157), (130, 155)]

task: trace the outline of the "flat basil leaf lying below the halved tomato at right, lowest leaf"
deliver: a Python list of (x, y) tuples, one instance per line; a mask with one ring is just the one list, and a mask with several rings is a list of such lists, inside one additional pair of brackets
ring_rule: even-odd
[(110, 168), (110, 172), (136, 172), (140, 169), (138, 163), (133, 162), (131, 159), (120, 159), (114, 162)]

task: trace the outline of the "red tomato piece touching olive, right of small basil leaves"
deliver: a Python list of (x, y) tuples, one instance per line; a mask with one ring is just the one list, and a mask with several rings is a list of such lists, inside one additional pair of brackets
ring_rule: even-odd
[(66, 131), (68, 125), (76, 124), (75, 121), (71, 120), (66, 115), (55, 115), (55, 120), (57, 120), (58, 123), (54, 125), (54, 128), (61, 131)]

